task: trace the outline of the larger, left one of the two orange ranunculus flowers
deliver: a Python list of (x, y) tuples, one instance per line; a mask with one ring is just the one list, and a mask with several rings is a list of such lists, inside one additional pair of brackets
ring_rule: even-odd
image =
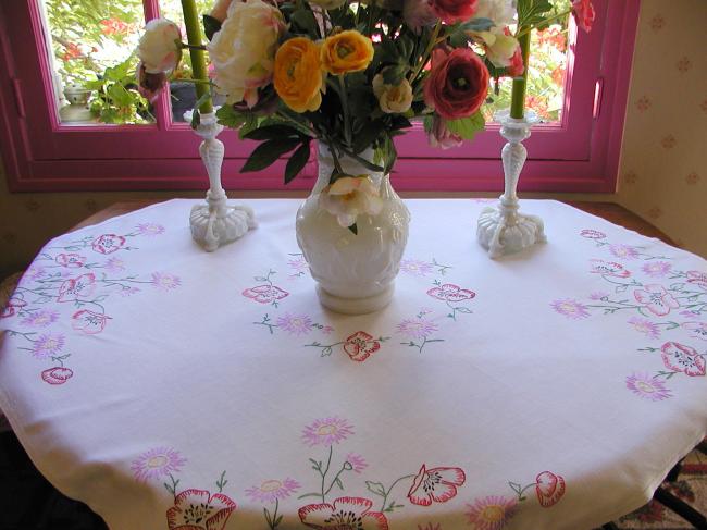
[(275, 53), (275, 91), (295, 112), (315, 111), (322, 104), (319, 48), (308, 38), (295, 37)]

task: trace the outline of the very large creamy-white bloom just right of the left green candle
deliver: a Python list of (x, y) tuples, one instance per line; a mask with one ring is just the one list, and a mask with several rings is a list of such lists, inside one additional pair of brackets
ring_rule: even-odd
[(221, 29), (207, 45), (214, 83), (228, 103), (258, 102), (258, 88), (272, 81), (282, 13), (262, 0), (233, 2)]

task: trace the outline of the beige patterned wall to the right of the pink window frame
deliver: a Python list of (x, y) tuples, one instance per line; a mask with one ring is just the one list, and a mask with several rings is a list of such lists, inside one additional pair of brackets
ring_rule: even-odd
[(618, 201), (707, 257), (705, 0), (644, 0)]

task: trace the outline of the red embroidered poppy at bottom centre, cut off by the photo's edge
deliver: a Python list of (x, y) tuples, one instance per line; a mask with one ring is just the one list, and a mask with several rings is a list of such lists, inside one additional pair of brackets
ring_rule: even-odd
[(388, 521), (373, 503), (362, 497), (339, 497), (333, 504), (308, 504), (299, 508), (299, 520), (318, 530), (388, 530)]

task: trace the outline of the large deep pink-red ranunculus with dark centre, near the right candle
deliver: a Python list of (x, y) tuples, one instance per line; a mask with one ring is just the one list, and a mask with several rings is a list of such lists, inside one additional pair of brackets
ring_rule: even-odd
[(476, 112), (488, 93), (488, 70), (469, 48), (432, 56), (432, 70), (424, 84), (424, 101), (445, 120), (468, 118)]

